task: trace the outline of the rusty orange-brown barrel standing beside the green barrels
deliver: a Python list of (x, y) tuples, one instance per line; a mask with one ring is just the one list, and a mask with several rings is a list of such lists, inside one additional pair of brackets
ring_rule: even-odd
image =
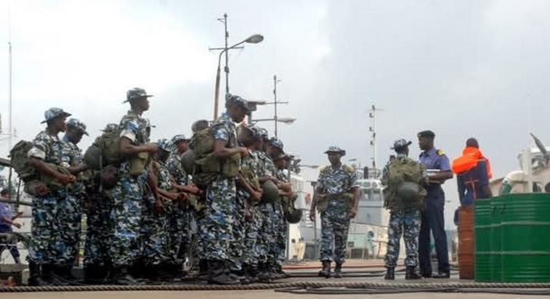
[(473, 206), (458, 210), (458, 264), (461, 280), (473, 280)]

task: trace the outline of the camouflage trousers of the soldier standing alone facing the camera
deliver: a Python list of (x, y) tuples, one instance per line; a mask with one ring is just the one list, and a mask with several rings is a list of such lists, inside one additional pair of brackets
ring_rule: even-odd
[(344, 199), (333, 199), (329, 201), (327, 211), (321, 213), (321, 261), (345, 261), (348, 212)]

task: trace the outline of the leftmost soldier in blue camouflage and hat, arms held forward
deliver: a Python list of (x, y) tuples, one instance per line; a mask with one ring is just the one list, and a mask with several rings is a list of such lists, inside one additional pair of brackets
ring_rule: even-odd
[[(28, 152), (29, 164), (36, 168), (39, 174), (57, 179), (63, 185), (74, 181), (74, 176), (58, 172), (47, 163), (61, 165), (63, 143), (58, 133), (65, 131), (65, 120), (70, 113), (61, 108), (50, 108), (45, 113), (47, 128), (41, 131), (32, 141)], [(39, 176), (40, 177), (40, 176)], [(43, 286), (56, 284), (52, 278), (55, 268), (62, 266), (58, 259), (60, 244), (59, 222), (57, 218), (58, 204), (66, 195), (65, 188), (47, 190), (44, 184), (31, 186), (26, 184), (26, 191), (33, 193), (33, 209), (31, 220), (31, 243), (29, 246), (29, 285)], [(32, 189), (32, 190), (31, 190)]]

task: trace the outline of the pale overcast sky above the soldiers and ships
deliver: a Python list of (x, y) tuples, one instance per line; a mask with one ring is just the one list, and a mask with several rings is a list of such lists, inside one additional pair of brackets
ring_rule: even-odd
[[(475, 136), (495, 177), (518, 168), (533, 131), (550, 144), (548, 1), (0, 1), (0, 112), (8, 128), (8, 28), (14, 67), (14, 127), (31, 139), (51, 106), (86, 122), (86, 148), (135, 86), (155, 95), (146, 113), (154, 139), (189, 134), (212, 118), (217, 54), (229, 15), (230, 90), (272, 100), (282, 80), (280, 136), (304, 163), (327, 163), (329, 145), (370, 163), (368, 108), (377, 118), (378, 163), (396, 138), (436, 132), (451, 159)], [(9, 25), (10, 24), (10, 25)], [(221, 86), (223, 95), (223, 84)], [(221, 97), (223, 99), (223, 97)], [(222, 106), (222, 105), (221, 105)], [(271, 118), (272, 106), (255, 118)], [(265, 123), (272, 131), (272, 124)], [(14, 142), (15, 144), (15, 142)], [(0, 152), (6, 154), (2, 141)], [(306, 172), (315, 179), (315, 172)], [(448, 181), (446, 207), (457, 206)]]

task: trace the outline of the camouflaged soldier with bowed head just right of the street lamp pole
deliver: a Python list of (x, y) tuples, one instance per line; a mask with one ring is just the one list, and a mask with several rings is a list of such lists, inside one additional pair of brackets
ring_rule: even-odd
[[(242, 122), (249, 113), (248, 102), (237, 95), (226, 98), (226, 113), (212, 124), (214, 156), (222, 161), (240, 154), (248, 156), (246, 147), (237, 145), (235, 122)], [(233, 240), (235, 215), (235, 178), (218, 173), (207, 186), (206, 215), (199, 220), (198, 237), (201, 239), (201, 259), (207, 260), (210, 284), (239, 284), (229, 275), (229, 267), (235, 264), (231, 258), (230, 243)]]

